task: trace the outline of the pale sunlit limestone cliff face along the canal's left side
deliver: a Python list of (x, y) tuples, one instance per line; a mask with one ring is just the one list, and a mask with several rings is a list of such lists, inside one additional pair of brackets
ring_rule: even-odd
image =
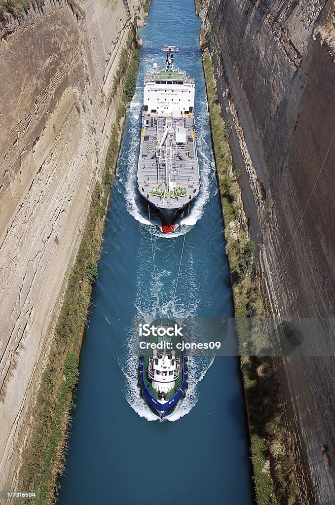
[(83, 0), (80, 9), (45, 0), (0, 33), (2, 489), (15, 488), (18, 449), (101, 177), (118, 105), (107, 97), (130, 18), (143, 17), (140, 0)]

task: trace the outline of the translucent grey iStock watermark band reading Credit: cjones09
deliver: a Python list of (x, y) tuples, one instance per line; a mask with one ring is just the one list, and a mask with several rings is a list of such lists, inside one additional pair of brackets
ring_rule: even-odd
[(335, 357), (335, 318), (134, 318), (129, 331), (134, 356)]

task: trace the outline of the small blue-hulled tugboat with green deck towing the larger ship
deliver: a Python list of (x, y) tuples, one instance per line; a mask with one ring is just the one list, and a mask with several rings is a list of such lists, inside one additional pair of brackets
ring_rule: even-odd
[(178, 324), (156, 319), (148, 325), (146, 349), (139, 357), (140, 395), (161, 419), (186, 396), (188, 388), (187, 356), (182, 350)]

